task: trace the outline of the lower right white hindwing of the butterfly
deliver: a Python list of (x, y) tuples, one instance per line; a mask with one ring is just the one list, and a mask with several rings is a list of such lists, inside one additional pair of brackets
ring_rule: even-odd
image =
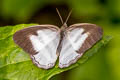
[(63, 38), (62, 48), (59, 56), (59, 67), (64, 68), (68, 67), (70, 64), (76, 62), (76, 58), (79, 58), (81, 54), (78, 54), (72, 44), (69, 41), (67, 35)]

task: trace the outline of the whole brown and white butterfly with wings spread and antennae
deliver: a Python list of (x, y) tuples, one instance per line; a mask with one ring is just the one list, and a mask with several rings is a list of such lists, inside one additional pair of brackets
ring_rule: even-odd
[[(63, 23), (62, 17), (58, 15)], [(78, 23), (61, 28), (55, 25), (36, 25), (15, 32), (14, 42), (29, 53), (32, 62), (39, 68), (54, 67), (59, 58), (59, 67), (74, 64), (89, 48), (102, 38), (103, 30), (95, 24)]]

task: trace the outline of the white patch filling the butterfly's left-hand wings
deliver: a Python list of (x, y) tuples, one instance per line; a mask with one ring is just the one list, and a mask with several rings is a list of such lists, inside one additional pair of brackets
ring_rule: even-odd
[(34, 50), (37, 52), (36, 55), (31, 55), (31, 58), (38, 67), (51, 68), (58, 57), (56, 51), (60, 41), (60, 34), (49, 29), (38, 30), (37, 34), (37, 36), (30, 36)]

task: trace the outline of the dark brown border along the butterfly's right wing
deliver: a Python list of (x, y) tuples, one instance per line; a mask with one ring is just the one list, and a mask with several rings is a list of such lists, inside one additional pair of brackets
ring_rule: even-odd
[(90, 24), (90, 23), (81, 23), (81, 24), (73, 24), (67, 28), (67, 30), (71, 31), (75, 28), (83, 28), (85, 31), (82, 33), (89, 32), (87, 39), (82, 44), (82, 47), (77, 51), (79, 54), (83, 54), (86, 50), (91, 48), (97, 41), (102, 38), (103, 30), (101, 27)]

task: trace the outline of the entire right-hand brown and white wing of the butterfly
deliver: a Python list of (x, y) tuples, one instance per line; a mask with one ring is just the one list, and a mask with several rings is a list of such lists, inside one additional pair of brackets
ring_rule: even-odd
[(83, 53), (102, 38), (102, 29), (94, 24), (74, 24), (66, 29), (59, 56), (59, 67), (75, 63)]

